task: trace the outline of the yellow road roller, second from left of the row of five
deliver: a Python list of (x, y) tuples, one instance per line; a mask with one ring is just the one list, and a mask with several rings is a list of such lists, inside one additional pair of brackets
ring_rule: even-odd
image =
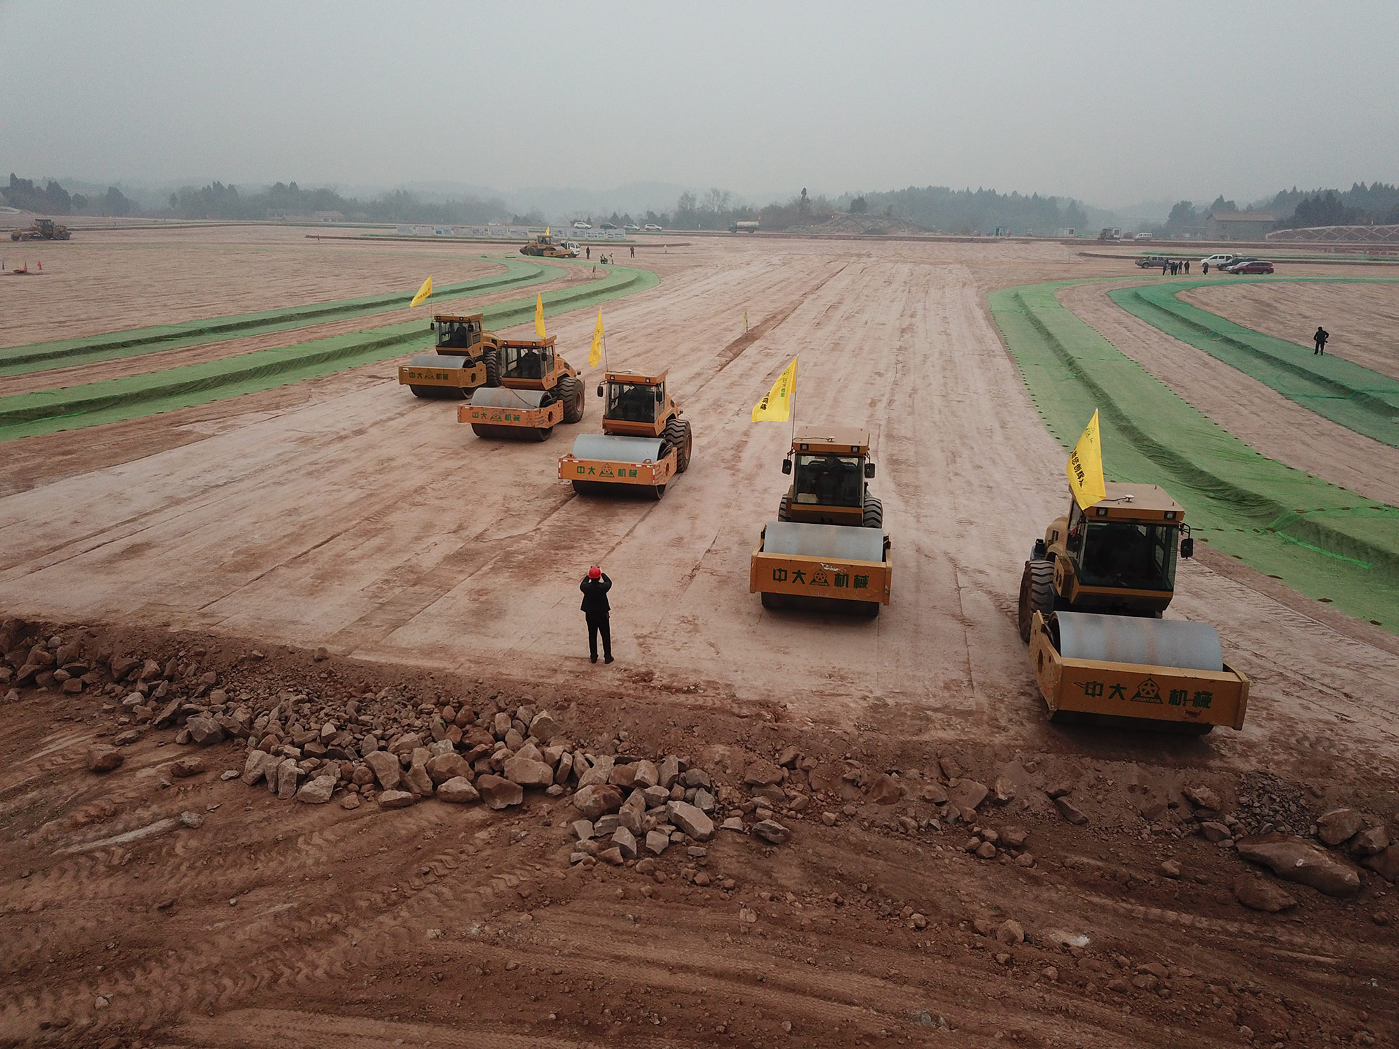
[(583, 417), (583, 380), (548, 338), (502, 338), (501, 380), (456, 410), (471, 432), (506, 441), (547, 441), (560, 422)]

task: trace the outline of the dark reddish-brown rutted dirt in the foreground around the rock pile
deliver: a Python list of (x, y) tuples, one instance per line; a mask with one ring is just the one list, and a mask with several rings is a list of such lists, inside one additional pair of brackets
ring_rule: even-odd
[[(897, 726), (832, 730), (782, 704), (644, 683), (560, 692), (196, 634), (4, 631), (8, 666), (38, 645), (84, 681), (0, 708), (7, 1045), (1399, 1036), (1399, 1007), (1375, 990), (1399, 961), (1388, 883), (1354, 869), (1358, 892), (1325, 883), (1333, 897), (1240, 857), (1248, 834), (1309, 836), (1340, 801), (1361, 829), (1392, 827), (1395, 796), (1363, 771), (1192, 773), (1199, 741), (1163, 740), (1143, 761), (1111, 734), (1076, 754), (930, 748)], [(616, 766), (683, 755), (712, 776), (715, 822), (744, 829), (613, 866), (576, 842), (582, 792), (386, 808), (371, 785), (343, 794), (354, 807), (301, 804), (236, 778), (248, 741), (178, 741), (215, 706), (222, 720), (351, 701), (371, 733), (443, 705), (477, 732), (522, 704), (550, 711), (551, 743)], [(313, 757), (312, 736), (298, 761), (336, 761)], [(94, 744), (123, 758), (115, 771), (88, 771)], [(762, 841), (758, 817), (790, 838)], [(1342, 880), (1353, 870), (1344, 850), (1305, 848)]]

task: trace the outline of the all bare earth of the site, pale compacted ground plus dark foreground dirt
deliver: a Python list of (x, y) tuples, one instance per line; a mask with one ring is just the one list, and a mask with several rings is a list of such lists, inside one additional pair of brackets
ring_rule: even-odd
[[(428, 271), (491, 273), (471, 248), (84, 234), (43, 246), (42, 281), (0, 281), (0, 340), (411, 292)], [(1294, 908), (1245, 909), (1233, 885), (1255, 869), (1184, 832), (1182, 794), (1210, 787), (1227, 811), (1279, 824), (1347, 804), (1395, 828), (1399, 639), (1205, 550), (1181, 564), (1167, 614), (1213, 622), (1252, 694), (1242, 732), (1186, 740), (1049, 725), (1017, 636), (1021, 566), (1066, 509), (1065, 449), (986, 294), (1158, 278), (1056, 242), (736, 236), (637, 256), (621, 262), (660, 284), (604, 306), (609, 364), (669, 368), (695, 434), (660, 502), (582, 498), (557, 480), (572, 436), (600, 431), (596, 397), (544, 445), (485, 441), (385, 361), (6, 442), (0, 614), (159, 662), (197, 652), (229, 694), (529, 702), (576, 745), (687, 755), (725, 804), (747, 797), (748, 765), (795, 747), (837, 775), (783, 820), (792, 839), (719, 832), (698, 884), (672, 856), (683, 850), (660, 859), (665, 880), (571, 866), (567, 797), (504, 813), (285, 803), (220, 779), (242, 769), (232, 743), (171, 780), (190, 748), (168, 730), (143, 732), (95, 776), (84, 755), (120, 708), (21, 690), (0, 705), (0, 1042), (1399, 1043), (1392, 885), (1365, 871), (1357, 897), (1335, 899), (1277, 883)], [(1392, 291), (1234, 291), (1244, 280), (1189, 298), (1259, 330), (1265, 313), (1295, 317), (1273, 331), (1288, 338), (1316, 323), (1356, 343), (1372, 333), (1365, 352), (1381, 352)], [(1393, 449), (1128, 315), (1107, 298), (1118, 285), (1060, 299), (1263, 455), (1399, 501)], [(1319, 315), (1332, 301), (1344, 322)], [(548, 323), (589, 392), (595, 320)], [(1393, 373), (1384, 352), (1388, 365), (1356, 359)], [(893, 601), (874, 620), (764, 611), (747, 592), (790, 441), (748, 413), (793, 355), (797, 421), (873, 435), (894, 543)], [(158, 357), (119, 366), (169, 366)], [(592, 564), (614, 580), (610, 666), (589, 663), (578, 608)], [(866, 793), (884, 772), (905, 789), (893, 804)], [(926, 825), (922, 787), (967, 780), (1011, 786), (972, 822), (1027, 829), (1032, 866), (965, 852), (963, 821)], [(1056, 786), (1087, 825), (1060, 815)], [(182, 811), (206, 818), (120, 838)]]

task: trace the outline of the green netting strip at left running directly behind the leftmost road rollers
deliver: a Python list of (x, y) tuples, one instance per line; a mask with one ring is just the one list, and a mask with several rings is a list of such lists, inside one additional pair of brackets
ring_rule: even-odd
[[(602, 280), (544, 292), (544, 313), (553, 316), (593, 306), (660, 283), (651, 270), (606, 269), (609, 271)], [(499, 302), (487, 306), (484, 313), (488, 327), (511, 327), (534, 316), (534, 299)], [(85, 386), (0, 397), (0, 441), (116, 422), (287, 386), (420, 348), (410, 347), (410, 343), (425, 343), (421, 348), (431, 345), (431, 333), (422, 320)]]

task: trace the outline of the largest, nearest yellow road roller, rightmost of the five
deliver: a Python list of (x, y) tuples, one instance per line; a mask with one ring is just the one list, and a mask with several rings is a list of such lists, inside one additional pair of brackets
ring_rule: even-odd
[(1051, 720), (1242, 729), (1248, 678), (1224, 662), (1219, 634), (1161, 618), (1177, 554), (1195, 552), (1185, 509), (1154, 484), (1105, 487), (1087, 511), (1070, 497), (1020, 578), (1020, 638)]

